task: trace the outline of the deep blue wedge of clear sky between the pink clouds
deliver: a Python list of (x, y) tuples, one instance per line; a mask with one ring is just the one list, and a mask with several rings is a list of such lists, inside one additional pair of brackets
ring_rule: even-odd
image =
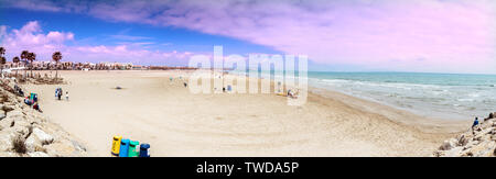
[(67, 45), (121, 45), (139, 44), (151, 51), (211, 53), (214, 45), (223, 45), (228, 54), (281, 54), (270, 47), (249, 42), (195, 32), (182, 27), (150, 24), (112, 22), (86, 14), (65, 12), (30, 11), (1, 8), (1, 24), (9, 29), (21, 29), (30, 21), (37, 21), (43, 31), (72, 32), (74, 41)]

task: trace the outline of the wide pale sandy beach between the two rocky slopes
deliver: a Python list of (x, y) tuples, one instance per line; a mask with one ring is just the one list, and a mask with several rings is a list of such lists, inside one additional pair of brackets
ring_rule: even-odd
[[(315, 88), (302, 107), (273, 93), (193, 94), (185, 71), (58, 74), (67, 85), (23, 88), (39, 93), (44, 114), (80, 138), (89, 156), (110, 156), (114, 135), (149, 143), (152, 156), (164, 157), (430, 156), (471, 125)], [(55, 100), (57, 87), (68, 101)]]

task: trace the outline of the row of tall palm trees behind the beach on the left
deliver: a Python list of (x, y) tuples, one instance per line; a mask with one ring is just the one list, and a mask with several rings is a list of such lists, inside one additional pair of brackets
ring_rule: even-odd
[[(3, 74), (3, 65), (7, 64), (7, 59), (3, 56), (6, 54), (6, 48), (0, 46), (0, 74)], [(30, 53), (29, 51), (22, 51), (21, 52), (21, 58), (19, 58), (18, 56), (12, 58), (12, 63), (14, 63), (15, 65), (19, 65), (19, 63), (23, 61), (24, 64), (29, 64), (29, 68), (31, 70), (31, 77), (33, 77), (33, 61), (36, 60), (36, 54), (34, 53)], [(61, 61), (62, 59), (62, 53), (61, 52), (55, 52), (52, 55), (52, 59), (55, 61), (55, 65), (58, 66), (58, 61)], [(30, 61), (30, 63), (28, 63)], [(26, 71), (24, 70), (24, 76), (26, 75)], [(18, 70), (15, 70), (15, 77), (18, 76)], [(57, 68), (55, 68), (55, 79), (57, 79), (58, 76), (58, 70)]]

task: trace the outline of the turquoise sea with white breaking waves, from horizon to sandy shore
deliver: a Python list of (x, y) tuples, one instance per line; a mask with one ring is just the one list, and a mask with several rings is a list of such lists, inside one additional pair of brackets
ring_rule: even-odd
[(423, 116), (468, 120), (496, 111), (496, 75), (309, 71), (309, 85)]

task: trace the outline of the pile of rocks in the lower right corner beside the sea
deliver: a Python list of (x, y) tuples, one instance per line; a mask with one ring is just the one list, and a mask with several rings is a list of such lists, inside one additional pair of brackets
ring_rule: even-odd
[(455, 138), (444, 141), (436, 157), (495, 157), (496, 156), (496, 112), (481, 121), (473, 130)]

